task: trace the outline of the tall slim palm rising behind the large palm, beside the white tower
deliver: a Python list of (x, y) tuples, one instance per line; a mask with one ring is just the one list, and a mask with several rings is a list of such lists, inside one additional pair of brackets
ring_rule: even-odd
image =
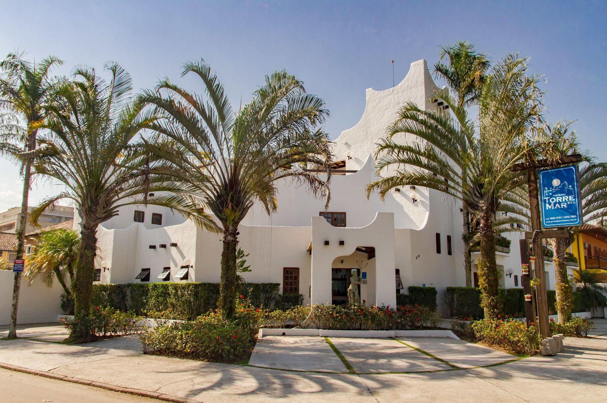
[[(489, 58), (483, 53), (477, 53), (474, 45), (467, 41), (458, 41), (452, 46), (441, 46), (439, 62), (434, 65), (436, 77), (444, 79), (454, 94), (455, 104), (459, 108), (466, 108), (475, 104), (480, 95), (480, 89), (486, 82), (487, 69), (490, 67)], [(464, 165), (459, 166), (465, 169)], [(466, 174), (461, 175), (466, 178)], [(463, 188), (467, 185), (463, 184)], [(463, 203), (463, 231), (464, 241), (464, 270), (466, 271), (466, 287), (472, 287), (472, 259), (470, 258), (470, 212)]]

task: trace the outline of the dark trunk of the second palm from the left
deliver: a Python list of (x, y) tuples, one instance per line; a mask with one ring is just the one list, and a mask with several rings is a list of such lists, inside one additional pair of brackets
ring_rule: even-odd
[(80, 256), (76, 266), (76, 279), (73, 284), (74, 319), (76, 325), (67, 339), (78, 344), (95, 339), (90, 332), (88, 317), (90, 312), (90, 297), (95, 278), (95, 256), (97, 256), (97, 222), (83, 222), (81, 235)]

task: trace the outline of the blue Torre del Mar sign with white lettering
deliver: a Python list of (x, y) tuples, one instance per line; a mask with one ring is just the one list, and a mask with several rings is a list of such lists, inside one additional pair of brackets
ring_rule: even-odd
[(541, 226), (582, 225), (577, 166), (540, 170)]

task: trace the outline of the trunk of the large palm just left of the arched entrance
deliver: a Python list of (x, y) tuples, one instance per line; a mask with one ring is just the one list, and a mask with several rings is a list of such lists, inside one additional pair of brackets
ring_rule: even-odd
[(231, 318), (236, 312), (237, 246), (237, 227), (228, 227), (223, 231), (222, 278), (220, 283), (220, 307), (226, 318)]

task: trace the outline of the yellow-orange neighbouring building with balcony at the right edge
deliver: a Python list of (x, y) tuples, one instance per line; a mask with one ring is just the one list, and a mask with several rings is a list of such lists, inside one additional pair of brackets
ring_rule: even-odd
[(607, 230), (599, 225), (584, 224), (580, 227), (571, 253), (577, 258), (580, 269), (602, 271), (607, 277)]

